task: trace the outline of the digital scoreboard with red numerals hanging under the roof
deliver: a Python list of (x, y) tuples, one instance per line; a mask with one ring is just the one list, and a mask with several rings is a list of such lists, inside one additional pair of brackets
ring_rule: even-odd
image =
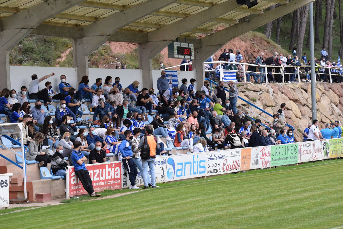
[(168, 45), (168, 58), (194, 59), (194, 46), (189, 43), (172, 42)]

